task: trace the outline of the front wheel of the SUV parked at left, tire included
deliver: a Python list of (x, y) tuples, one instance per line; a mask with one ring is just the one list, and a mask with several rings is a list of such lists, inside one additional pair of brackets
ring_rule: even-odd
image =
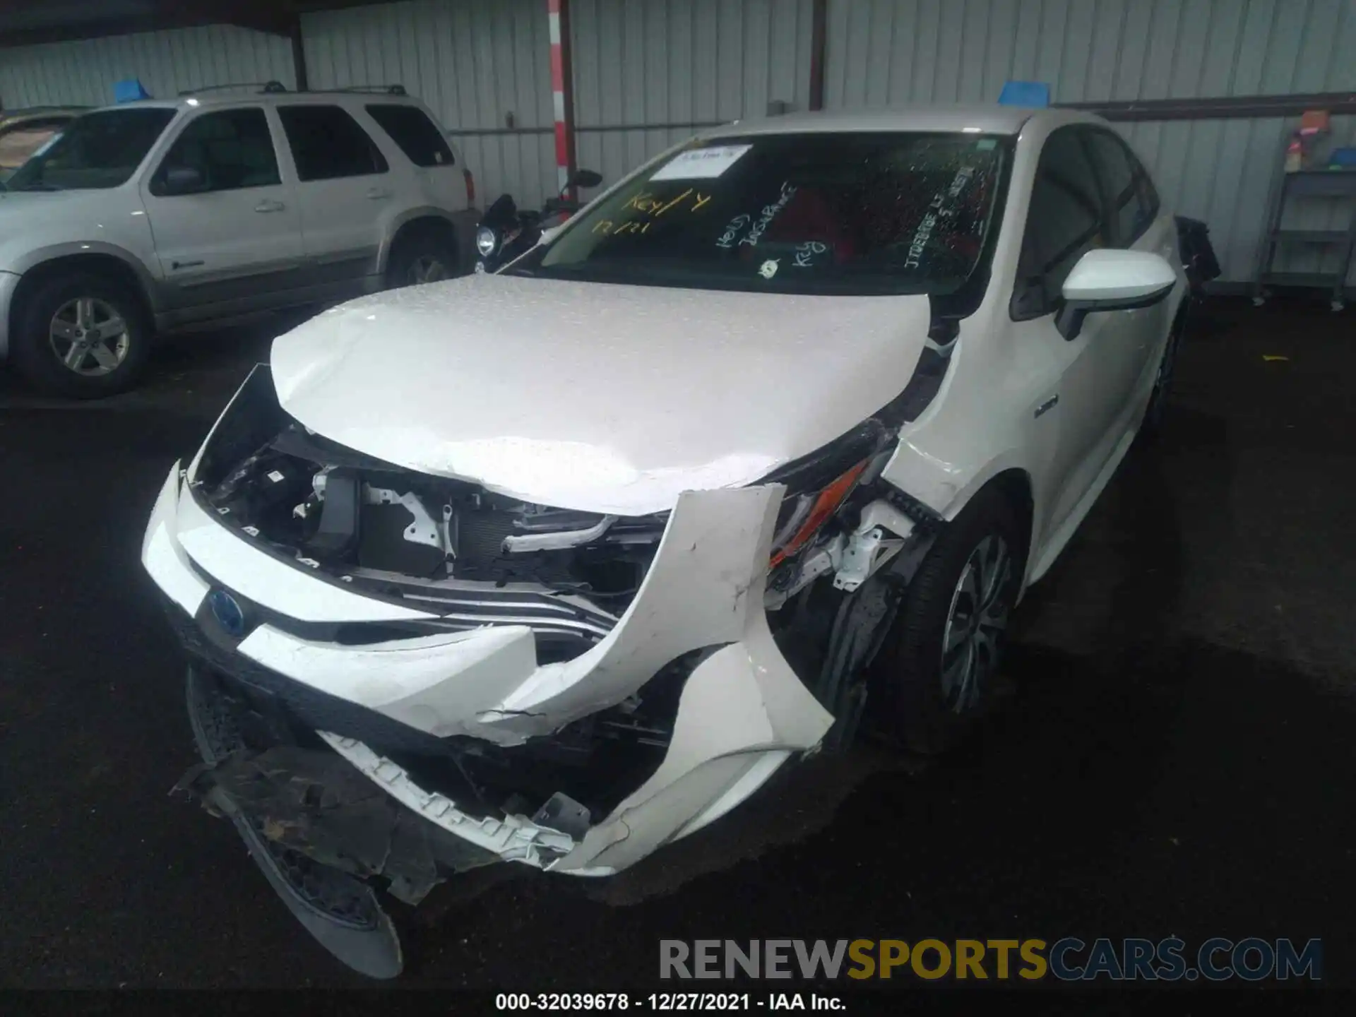
[(151, 353), (141, 301), (102, 275), (56, 275), (19, 311), (15, 366), (39, 392), (99, 399), (136, 382)]

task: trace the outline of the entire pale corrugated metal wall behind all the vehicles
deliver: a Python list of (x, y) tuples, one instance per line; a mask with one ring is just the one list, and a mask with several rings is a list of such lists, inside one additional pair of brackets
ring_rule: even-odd
[[(805, 108), (812, 0), (572, 0), (576, 152), (612, 182), (696, 126)], [(315, 88), (400, 81), (457, 134), (480, 201), (555, 190), (545, 0), (407, 0), (302, 18)], [(277, 79), (285, 38), (213, 26), (0, 50), (0, 100), (104, 103)], [(830, 110), (993, 100), (1009, 79), (1056, 102), (1356, 91), (1356, 0), (829, 0)], [(511, 115), (511, 123), (510, 123)], [(1125, 125), (1166, 201), (1211, 224), (1224, 278), (1252, 275), (1294, 119)], [(1356, 142), (1356, 118), (1333, 140)], [(1336, 205), (1296, 225), (1344, 225)], [(1281, 267), (1333, 255), (1300, 250)], [(1323, 260), (1321, 260), (1323, 259)]]

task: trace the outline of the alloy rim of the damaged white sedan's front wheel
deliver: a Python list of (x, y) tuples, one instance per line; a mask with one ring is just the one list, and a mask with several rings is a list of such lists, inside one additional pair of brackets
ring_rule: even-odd
[(1008, 603), (1012, 568), (1008, 542), (991, 533), (975, 545), (960, 570), (941, 648), (942, 701), (953, 713), (975, 706), (998, 666), (1012, 610)]

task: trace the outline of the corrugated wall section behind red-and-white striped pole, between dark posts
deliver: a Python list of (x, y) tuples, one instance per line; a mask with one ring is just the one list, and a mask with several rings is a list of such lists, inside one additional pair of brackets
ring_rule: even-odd
[[(805, 108), (810, 9), (574, 0), (579, 165), (612, 182), (692, 125), (762, 115), (774, 99)], [(302, 18), (313, 88), (400, 81), (458, 134), (481, 199), (510, 191), (525, 206), (555, 193), (546, 28), (545, 0), (411, 0)]]

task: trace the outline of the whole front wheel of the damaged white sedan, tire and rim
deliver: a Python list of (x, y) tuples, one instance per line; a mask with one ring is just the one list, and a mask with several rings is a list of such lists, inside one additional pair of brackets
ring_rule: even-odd
[(909, 584), (880, 678), (904, 743), (952, 747), (993, 704), (1026, 538), (1002, 491), (982, 491), (938, 536)]

